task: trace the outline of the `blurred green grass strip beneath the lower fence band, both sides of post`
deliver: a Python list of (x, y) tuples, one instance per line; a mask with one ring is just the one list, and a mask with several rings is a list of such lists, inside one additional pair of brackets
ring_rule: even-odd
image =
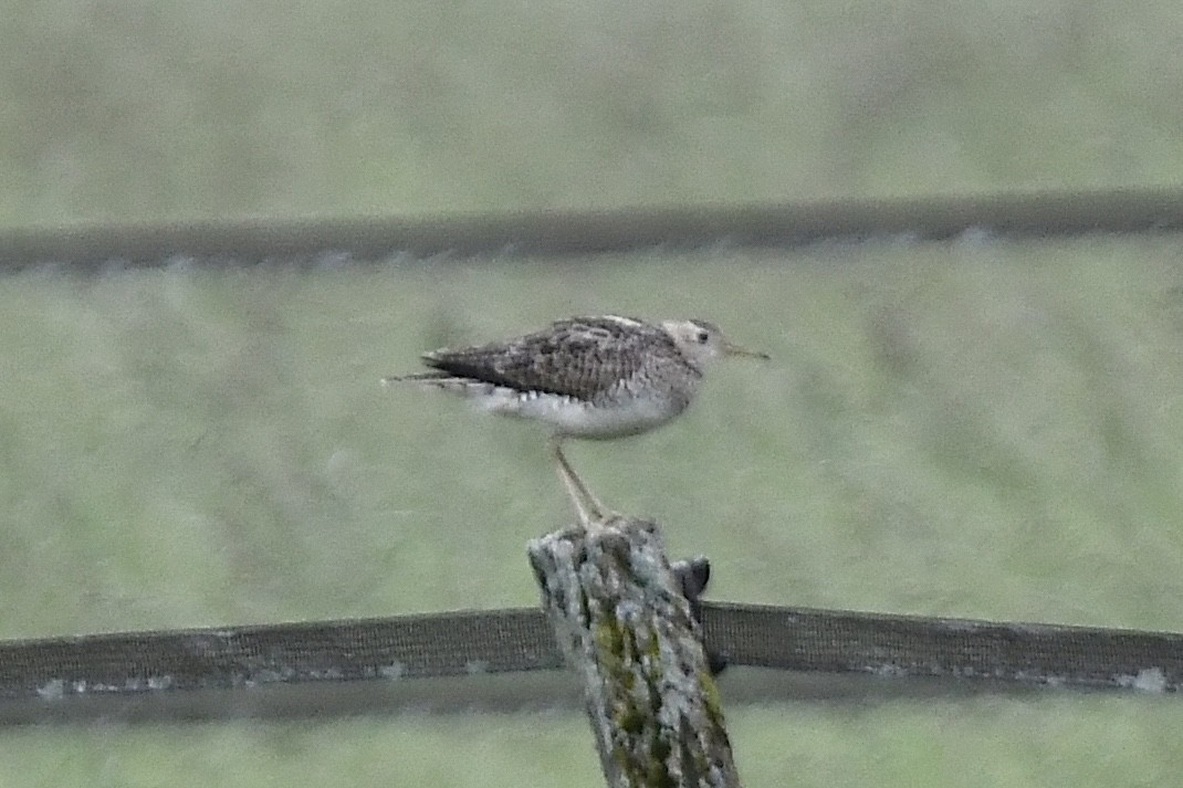
[[(790, 704), (729, 711), (728, 726), (750, 786), (1172, 786), (1176, 708), (1104, 696)], [(2, 743), (2, 786), (603, 786), (575, 715), (26, 729)]]

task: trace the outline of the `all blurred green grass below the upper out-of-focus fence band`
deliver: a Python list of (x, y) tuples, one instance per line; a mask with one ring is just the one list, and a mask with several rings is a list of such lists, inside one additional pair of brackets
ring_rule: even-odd
[[(7, 276), (0, 637), (532, 603), (524, 544), (570, 518), (542, 433), (377, 381), (609, 310), (774, 356), (570, 452), (673, 555), (710, 556), (716, 599), (1179, 631), (1181, 259), (1177, 237), (968, 238)], [(729, 716), (750, 784), (1168, 786), (1183, 708)], [(574, 715), (7, 730), (0, 751), (0, 784), (600, 780)]]

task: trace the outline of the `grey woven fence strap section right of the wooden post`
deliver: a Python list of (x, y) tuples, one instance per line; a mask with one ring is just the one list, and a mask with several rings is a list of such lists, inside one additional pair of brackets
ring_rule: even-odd
[(887, 677), (1176, 692), (1183, 634), (704, 603), (729, 664)]

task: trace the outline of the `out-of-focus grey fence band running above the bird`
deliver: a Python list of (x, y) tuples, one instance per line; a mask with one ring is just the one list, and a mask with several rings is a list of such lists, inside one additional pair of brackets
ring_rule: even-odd
[(581, 256), (827, 239), (1049, 238), (1183, 230), (1183, 190), (1035, 192), (782, 205), (539, 211), (427, 218), (193, 221), (0, 232), (0, 270), (103, 271), (179, 261), (332, 265), (471, 256)]

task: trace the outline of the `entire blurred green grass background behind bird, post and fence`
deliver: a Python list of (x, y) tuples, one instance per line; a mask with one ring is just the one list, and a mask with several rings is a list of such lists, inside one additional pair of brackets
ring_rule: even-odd
[[(1172, 4), (7, 4), (0, 224), (1171, 185)], [(1183, 629), (1175, 237), (0, 280), (0, 637), (532, 603), (543, 434), (381, 376), (774, 356), (575, 445), (718, 599)], [(724, 698), (726, 700), (726, 698)], [(728, 708), (750, 786), (1174, 786), (1175, 698)], [(578, 715), (0, 730), (0, 784), (602, 784)]]

